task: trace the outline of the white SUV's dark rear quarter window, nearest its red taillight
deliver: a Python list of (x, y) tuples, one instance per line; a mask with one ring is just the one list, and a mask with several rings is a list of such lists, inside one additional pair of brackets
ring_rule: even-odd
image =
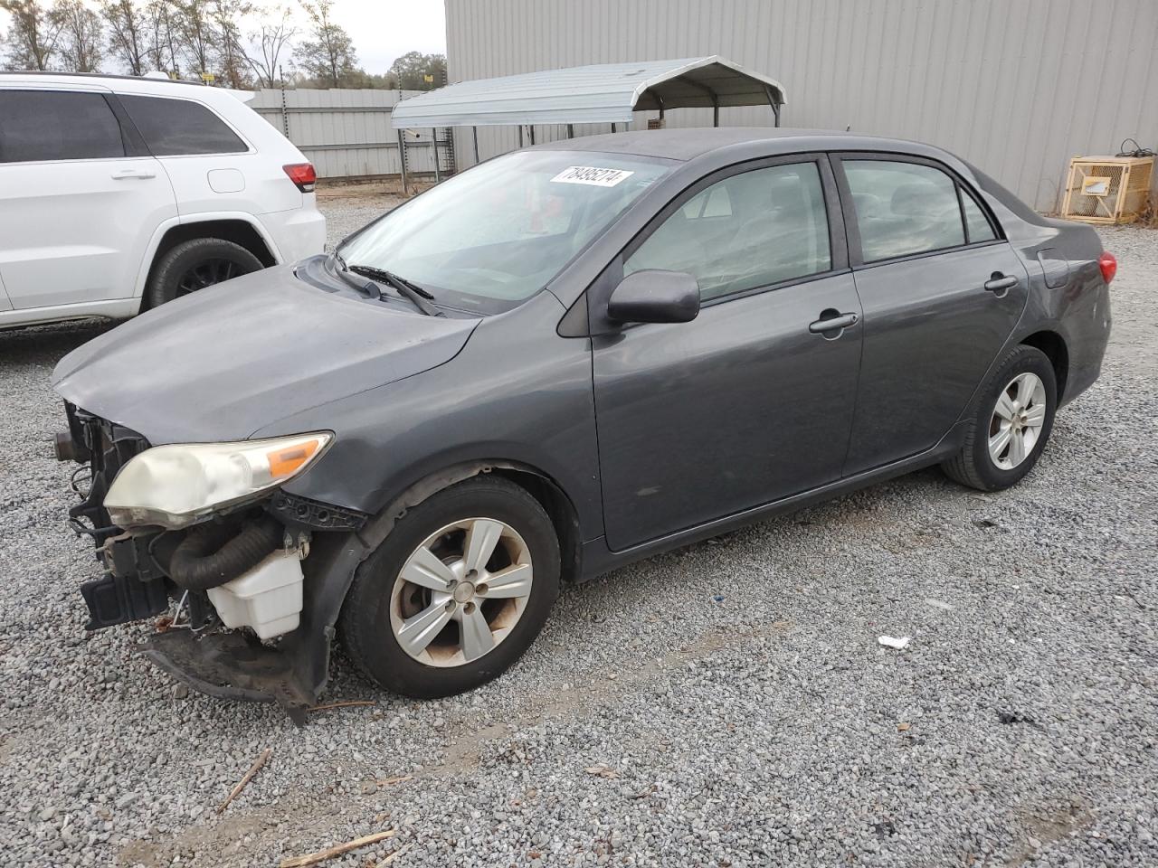
[(153, 156), (237, 154), (248, 150), (210, 109), (191, 100), (118, 94)]

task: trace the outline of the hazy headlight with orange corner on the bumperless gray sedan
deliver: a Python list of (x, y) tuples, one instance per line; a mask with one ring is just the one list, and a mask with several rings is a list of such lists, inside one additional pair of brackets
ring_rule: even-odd
[(184, 528), (223, 507), (284, 485), (325, 451), (332, 434), (237, 443), (156, 446), (117, 473), (104, 508), (122, 528)]

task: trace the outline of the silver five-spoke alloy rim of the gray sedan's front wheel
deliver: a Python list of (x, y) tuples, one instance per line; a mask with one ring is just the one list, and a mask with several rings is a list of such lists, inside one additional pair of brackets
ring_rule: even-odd
[(432, 667), (472, 663), (506, 639), (530, 598), (534, 568), (519, 532), (497, 518), (464, 518), (426, 537), (390, 594), (398, 646)]

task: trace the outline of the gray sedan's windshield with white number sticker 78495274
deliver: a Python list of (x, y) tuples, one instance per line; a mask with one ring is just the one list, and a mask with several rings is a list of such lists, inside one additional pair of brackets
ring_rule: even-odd
[(340, 248), (439, 304), (498, 312), (534, 295), (670, 163), (582, 150), (520, 150), (457, 175)]

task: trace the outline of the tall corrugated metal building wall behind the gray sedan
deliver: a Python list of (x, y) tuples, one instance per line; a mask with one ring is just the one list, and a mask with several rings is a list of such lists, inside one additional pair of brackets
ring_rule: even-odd
[[(784, 83), (785, 126), (940, 145), (1043, 211), (1071, 156), (1158, 147), (1158, 0), (446, 0), (446, 28), (450, 81), (723, 54)], [(755, 108), (720, 123), (772, 122)], [(478, 138), (484, 159), (518, 146), (513, 128)], [(456, 144), (470, 164), (469, 130)]]

